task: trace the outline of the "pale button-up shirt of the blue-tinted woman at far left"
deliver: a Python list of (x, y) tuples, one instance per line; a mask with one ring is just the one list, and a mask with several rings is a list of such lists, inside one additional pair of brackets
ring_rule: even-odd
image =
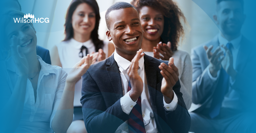
[[(60, 103), (64, 90), (67, 73), (59, 66), (46, 64), (37, 55), (41, 70), (37, 83), (36, 102), (34, 89), (30, 80), (27, 80), (24, 109), (17, 132), (52, 133), (52, 120)], [(3, 107), (12, 95), (18, 78), (16, 65), (12, 57), (6, 63), (6, 82), (1, 84), (0, 106)], [(2, 82), (1, 82), (2, 83)], [(15, 105), (13, 105), (15, 106)], [(11, 127), (11, 126), (10, 126)]]

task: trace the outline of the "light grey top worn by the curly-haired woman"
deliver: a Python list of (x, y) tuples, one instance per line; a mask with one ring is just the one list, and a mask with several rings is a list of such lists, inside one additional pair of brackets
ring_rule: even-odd
[[(154, 57), (153, 52), (144, 52), (145, 54)], [(173, 51), (174, 65), (179, 69), (180, 92), (186, 104), (187, 109), (192, 103), (192, 74), (193, 67), (190, 56), (187, 52), (176, 50)]]

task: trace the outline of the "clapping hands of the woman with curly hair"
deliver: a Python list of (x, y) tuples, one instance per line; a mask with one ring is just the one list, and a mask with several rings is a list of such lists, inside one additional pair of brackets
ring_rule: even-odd
[[(153, 47), (154, 57), (156, 59), (169, 60), (173, 53), (171, 50), (171, 42), (169, 41), (167, 44), (159, 42), (156, 47)], [(163, 56), (161, 56), (161, 53)]]

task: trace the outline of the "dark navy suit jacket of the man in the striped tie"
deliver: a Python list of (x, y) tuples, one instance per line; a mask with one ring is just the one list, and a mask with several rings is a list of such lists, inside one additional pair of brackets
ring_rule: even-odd
[[(158, 68), (162, 62), (168, 63), (168, 61), (144, 55), (148, 90), (157, 129), (160, 133), (188, 133), (191, 120), (180, 92), (180, 81), (177, 81), (173, 87), (178, 97), (177, 108), (174, 111), (164, 109), (161, 93), (163, 76)], [(87, 132), (114, 133), (130, 118), (121, 107), (122, 81), (114, 54), (106, 60), (91, 65), (82, 79), (81, 103)]]

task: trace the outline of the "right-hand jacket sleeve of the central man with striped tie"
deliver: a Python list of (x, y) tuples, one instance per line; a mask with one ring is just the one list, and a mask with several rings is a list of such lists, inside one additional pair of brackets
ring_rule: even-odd
[(178, 105), (173, 111), (165, 110), (167, 124), (174, 133), (188, 133), (191, 125), (191, 119), (182, 98), (182, 93), (180, 92), (180, 80), (172, 89), (178, 97)]

